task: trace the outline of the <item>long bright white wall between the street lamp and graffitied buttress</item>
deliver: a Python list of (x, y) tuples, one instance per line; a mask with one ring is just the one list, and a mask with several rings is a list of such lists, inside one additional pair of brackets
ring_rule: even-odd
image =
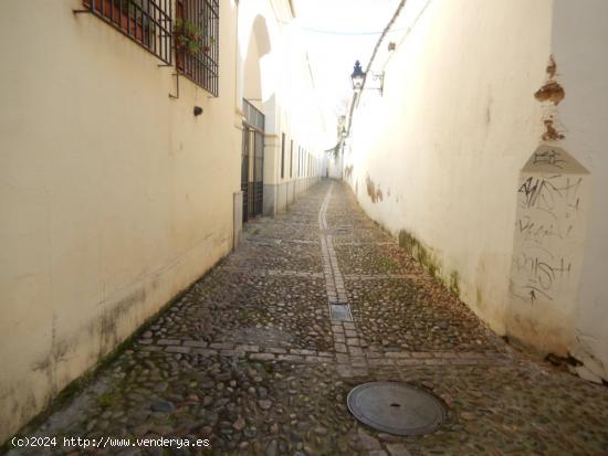
[[(405, 14), (418, 17), (418, 4)], [(366, 211), (416, 238), (501, 333), (517, 174), (543, 127), (533, 94), (551, 54), (551, 6), (431, 1), (386, 65), (384, 96), (363, 92), (345, 162)]]

